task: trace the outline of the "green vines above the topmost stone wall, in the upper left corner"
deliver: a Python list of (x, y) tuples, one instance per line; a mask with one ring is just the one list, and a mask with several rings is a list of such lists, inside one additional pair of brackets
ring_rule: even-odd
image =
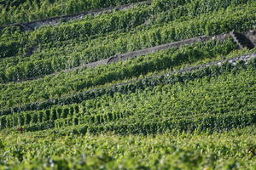
[(143, 2), (143, 0), (20, 0), (12, 2), (4, 1), (0, 4), (1, 21), (0, 26), (16, 22), (27, 22), (32, 20), (47, 19), (65, 14), (75, 14), (93, 9), (108, 8), (129, 3)]

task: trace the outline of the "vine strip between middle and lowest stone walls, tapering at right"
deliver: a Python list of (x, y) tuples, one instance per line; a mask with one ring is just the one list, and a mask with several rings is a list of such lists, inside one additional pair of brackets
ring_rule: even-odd
[[(230, 39), (224, 42), (199, 42), (181, 49), (171, 48), (141, 56), (125, 63), (102, 65), (95, 69), (68, 71), (54, 77), (44, 77), (34, 81), (11, 82), (2, 85), (1, 99), (3, 102), (1, 105), (7, 107), (21, 103), (36, 102), (42, 99), (59, 98), (65, 94), (74, 94), (108, 82), (125, 80), (146, 75), (149, 72), (162, 71), (177, 65), (193, 63), (201, 59), (211, 59), (219, 55), (226, 55), (235, 49), (236, 44)], [(70, 78), (67, 79), (67, 77)], [(63, 79), (66, 79), (66, 81), (62, 81)], [(42, 92), (42, 88), (45, 89), (44, 92)]]

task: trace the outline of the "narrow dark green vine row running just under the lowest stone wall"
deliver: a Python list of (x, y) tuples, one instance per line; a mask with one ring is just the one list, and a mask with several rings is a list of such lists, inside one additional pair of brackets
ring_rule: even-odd
[[(233, 62), (236, 59), (230, 59)], [(250, 61), (249, 67), (255, 67), (255, 59)], [(216, 63), (217, 65), (219, 63)], [(141, 89), (144, 90), (148, 87), (155, 87), (163, 84), (174, 84), (176, 82), (186, 82), (195, 80), (202, 77), (215, 77), (223, 74), (225, 71), (239, 71), (240, 68), (243, 68), (245, 65), (243, 63), (239, 63), (239, 65), (225, 64), (222, 66), (216, 65), (207, 65), (205, 68), (201, 68), (200, 70), (189, 71), (189, 72), (181, 72), (175, 75), (165, 75), (161, 77), (151, 77), (139, 80), (137, 82), (128, 82), (124, 84), (120, 84), (119, 86), (113, 86), (109, 88), (98, 88), (95, 90), (85, 91), (84, 93), (74, 94), (58, 99), (49, 99), (44, 102), (20, 105), (19, 107), (13, 107), (5, 110), (1, 110), (1, 115), (9, 115), (15, 112), (20, 111), (37, 111), (48, 109), (53, 105), (70, 105), (81, 103), (84, 100), (95, 99), (102, 95), (113, 96), (116, 93), (127, 94), (134, 93), (136, 90)], [(233, 69), (232, 69), (233, 68)]]

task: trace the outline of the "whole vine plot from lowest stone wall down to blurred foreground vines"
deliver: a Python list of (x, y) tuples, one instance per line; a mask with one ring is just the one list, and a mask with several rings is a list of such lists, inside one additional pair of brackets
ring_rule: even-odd
[(1, 116), (1, 128), (38, 131), (79, 125), (89, 133), (149, 134), (246, 127), (255, 123), (253, 86), (248, 87), (255, 76), (253, 65), (212, 66), (59, 99), (50, 109)]

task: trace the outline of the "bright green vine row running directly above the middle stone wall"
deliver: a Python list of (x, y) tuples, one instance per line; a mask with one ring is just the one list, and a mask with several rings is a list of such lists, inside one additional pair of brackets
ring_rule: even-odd
[[(248, 10), (248, 12), (249, 11), (250, 10)], [(219, 17), (221, 17), (221, 15), (222, 14), (219, 14)], [(246, 28), (249, 29), (253, 25), (253, 22), (251, 23), (251, 21), (249, 21), (250, 19), (248, 14), (247, 14), (248, 22), (246, 20), (243, 20), (244, 17), (242, 17), (242, 15), (240, 16), (241, 18), (239, 17), (240, 19), (239, 18), (234, 19), (232, 14), (232, 18), (228, 19), (228, 16), (227, 16), (227, 18), (225, 18), (226, 21), (223, 22), (221, 21), (223, 20), (223, 18), (221, 17), (222, 19), (219, 18), (219, 21), (221, 21), (222, 24), (224, 24), (229, 20), (230, 22), (233, 22), (233, 24), (235, 25), (236, 23), (239, 22), (239, 26), (238, 25), (232, 26), (231, 23), (229, 26), (225, 24), (224, 26), (221, 26), (222, 30), (219, 30), (218, 32), (212, 32), (211, 30), (208, 30), (207, 26), (212, 26), (213, 23), (211, 21), (213, 20), (209, 20), (208, 17), (209, 16), (205, 16), (205, 18), (202, 17), (201, 20), (195, 20), (193, 24), (190, 21), (183, 21), (182, 23), (183, 25), (181, 25), (181, 23), (179, 24), (174, 23), (175, 26), (171, 25), (171, 26), (164, 26), (162, 28), (152, 28), (151, 31), (147, 31), (147, 33), (145, 33), (145, 31), (138, 31), (137, 34), (140, 35), (139, 37), (137, 34), (129, 35), (129, 33), (126, 33), (125, 35), (121, 35), (121, 37), (119, 38), (112, 37), (110, 39), (107, 39), (106, 42), (98, 41), (96, 42), (98, 45), (93, 44), (95, 48), (88, 47), (82, 52), (79, 52), (79, 53), (75, 52), (73, 54), (66, 55), (66, 56), (62, 54), (61, 56), (56, 54), (55, 57), (42, 59), (42, 54), (36, 54), (34, 56), (36, 57), (35, 59), (41, 58), (40, 60), (37, 59), (37, 61), (35, 60), (25, 61), (17, 65), (17, 62), (19, 62), (20, 60), (19, 59), (14, 62), (14, 66), (9, 68), (4, 68), (6, 66), (4, 66), (4, 63), (3, 63), (3, 70), (2, 70), (2, 74), (0, 75), (1, 76), (0, 79), (1, 79), (1, 82), (10, 82), (10, 81), (16, 81), (16, 80), (23, 80), (30, 77), (39, 77), (39, 76), (51, 74), (55, 71), (61, 71), (67, 68), (84, 65), (91, 61), (108, 58), (114, 54), (125, 53), (127, 51), (134, 51), (140, 48), (154, 47), (155, 45), (164, 44), (167, 42), (174, 42), (174, 41), (186, 39), (189, 37), (209, 34), (210, 32), (211, 32), (210, 34), (216, 34), (216, 33), (218, 34), (218, 33), (231, 31), (233, 29), (240, 31)], [(255, 17), (252, 15), (252, 21), (254, 20), (254, 18)], [(216, 20), (216, 18), (214, 20)], [(207, 24), (205, 22), (209, 22), (209, 23)], [(242, 26), (241, 25), (242, 22), (245, 22), (244, 24), (246, 26)], [(201, 26), (204, 26), (204, 28), (201, 28)], [(241, 27), (242, 29), (239, 27)], [(196, 30), (198, 30), (199, 32), (198, 33), (194, 32)], [(190, 31), (193, 31), (193, 32), (190, 32)], [(192, 36), (191, 34), (193, 34), (194, 36)], [(42, 34), (40, 33), (38, 35), (42, 35)], [(116, 40), (111, 42), (110, 41), (111, 39), (116, 39)], [(105, 43), (106, 45), (103, 45)], [(15, 48), (15, 45), (12, 44), (11, 46)], [(8, 48), (4, 46), (3, 51), (6, 49)], [(85, 58), (84, 58), (84, 54), (85, 54)], [(45, 55), (43, 53), (43, 58), (44, 56), (52, 56), (52, 54)], [(21, 59), (21, 60), (24, 60), (24, 59)], [(65, 64), (65, 63), (68, 63), (68, 64)]]

